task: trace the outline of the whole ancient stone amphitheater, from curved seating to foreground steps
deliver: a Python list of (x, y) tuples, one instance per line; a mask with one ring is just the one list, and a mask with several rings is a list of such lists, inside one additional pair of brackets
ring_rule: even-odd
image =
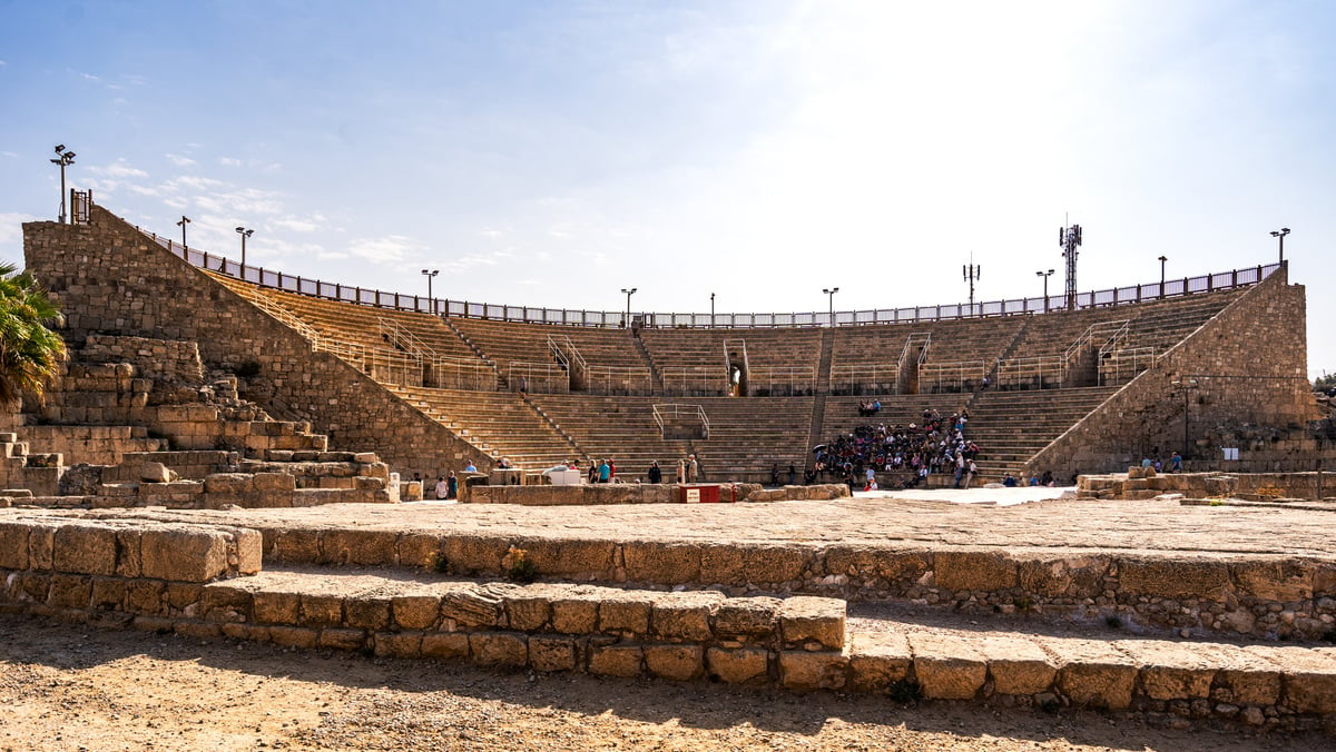
[[(987, 509), (755, 490), (871, 397), (886, 423), (967, 409), (985, 478), (1108, 473), (1188, 438), (1189, 469), (1232, 441), (1234, 469), (1292, 470), (1324, 450), (1284, 266), (1074, 309), (624, 321), (242, 270), (96, 206), (24, 239), (73, 358), (0, 434), (5, 613), (888, 701), (1336, 712), (1320, 498), (1180, 504), (1137, 474), (1098, 486), (1124, 498)], [(632, 478), (688, 453), (756, 502), (399, 504), (391, 480), (502, 457), (526, 484), (604, 457)]]

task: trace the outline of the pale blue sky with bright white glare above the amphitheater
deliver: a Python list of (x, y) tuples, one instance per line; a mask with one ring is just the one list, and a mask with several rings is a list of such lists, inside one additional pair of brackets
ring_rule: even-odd
[(331, 282), (824, 310), (1269, 263), (1336, 371), (1336, 5), (0, 0), (0, 259), (69, 182)]

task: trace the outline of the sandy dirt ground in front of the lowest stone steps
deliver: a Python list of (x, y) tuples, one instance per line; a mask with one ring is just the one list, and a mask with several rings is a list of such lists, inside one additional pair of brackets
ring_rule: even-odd
[(0, 749), (1320, 749), (1096, 713), (494, 672), (0, 616)]

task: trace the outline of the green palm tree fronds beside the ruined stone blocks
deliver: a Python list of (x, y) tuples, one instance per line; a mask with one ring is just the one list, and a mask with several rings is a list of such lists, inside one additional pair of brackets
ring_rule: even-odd
[(24, 391), (41, 395), (68, 357), (65, 342), (47, 329), (60, 310), (27, 271), (0, 263), (0, 403), (17, 402)]

